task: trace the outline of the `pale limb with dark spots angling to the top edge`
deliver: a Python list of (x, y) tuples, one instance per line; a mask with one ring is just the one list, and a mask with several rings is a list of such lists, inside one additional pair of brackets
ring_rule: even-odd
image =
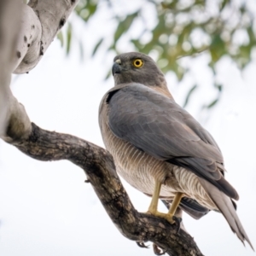
[(24, 5), (14, 73), (27, 73), (38, 64), (78, 2), (31, 0)]

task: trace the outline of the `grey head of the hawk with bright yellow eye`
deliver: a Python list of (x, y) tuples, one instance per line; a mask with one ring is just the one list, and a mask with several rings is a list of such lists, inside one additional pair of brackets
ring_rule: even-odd
[(112, 67), (114, 85), (139, 83), (146, 86), (157, 86), (166, 89), (164, 74), (148, 55), (139, 52), (128, 52), (117, 55)]

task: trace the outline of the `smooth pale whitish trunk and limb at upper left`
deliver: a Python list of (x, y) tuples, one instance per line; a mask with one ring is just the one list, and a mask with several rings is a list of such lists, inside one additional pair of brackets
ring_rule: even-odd
[(9, 89), (11, 73), (36, 67), (78, 2), (0, 0), (0, 137), (6, 142), (26, 139), (32, 129), (25, 108)]

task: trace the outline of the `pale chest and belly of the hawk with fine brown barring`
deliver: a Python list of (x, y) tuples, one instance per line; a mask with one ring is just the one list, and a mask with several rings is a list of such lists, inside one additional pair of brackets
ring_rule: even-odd
[[(161, 183), (165, 183), (167, 178), (170, 180), (172, 170), (166, 162), (156, 160), (149, 154), (135, 148), (131, 143), (115, 137), (108, 126), (107, 119), (100, 119), (100, 127), (103, 142), (107, 150), (113, 155), (117, 172), (131, 186), (145, 194), (152, 195), (155, 180)], [(170, 196), (171, 191), (170, 187), (165, 189), (163, 186), (161, 196)]]

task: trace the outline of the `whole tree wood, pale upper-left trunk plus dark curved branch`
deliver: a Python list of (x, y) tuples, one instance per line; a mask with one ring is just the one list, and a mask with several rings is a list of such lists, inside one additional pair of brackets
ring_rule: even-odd
[[(78, 0), (32, 0), (22, 5), (20, 32), (18, 1), (0, 1), (0, 137), (38, 160), (70, 160), (83, 168), (102, 205), (127, 238), (153, 241), (170, 255), (202, 255), (195, 241), (165, 219), (137, 212), (131, 204), (108, 152), (78, 137), (44, 131), (31, 123), (25, 108), (9, 90), (10, 74), (35, 67)], [(14, 18), (15, 17), (15, 18)], [(17, 39), (18, 38), (18, 39)], [(18, 44), (16, 44), (18, 42)], [(159, 253), (154, 246), (154, 252)]]

